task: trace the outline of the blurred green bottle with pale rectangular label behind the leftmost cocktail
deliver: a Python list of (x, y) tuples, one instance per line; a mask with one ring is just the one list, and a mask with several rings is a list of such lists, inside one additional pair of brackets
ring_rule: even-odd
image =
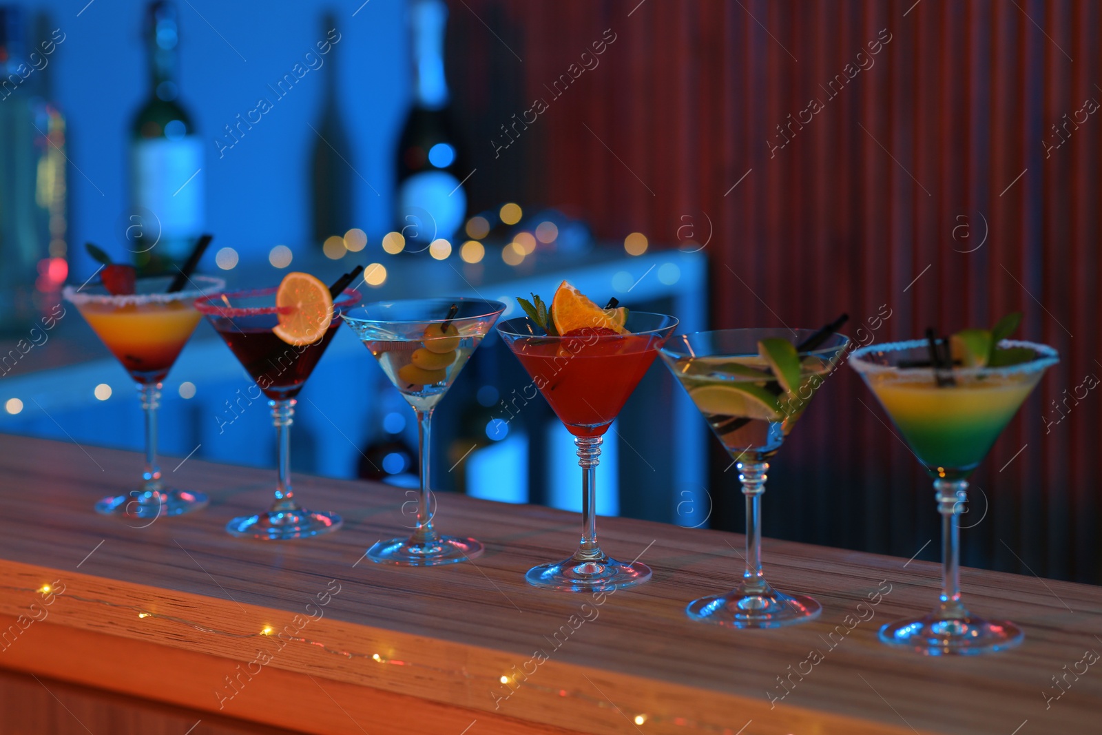
[(176, 101), (176, 7), (151, 2), (145, 15), (150, 96), (130, 129), (130, 210), (126, 247), (145, 273), (182, 264), (205, 221), (203, 143)]

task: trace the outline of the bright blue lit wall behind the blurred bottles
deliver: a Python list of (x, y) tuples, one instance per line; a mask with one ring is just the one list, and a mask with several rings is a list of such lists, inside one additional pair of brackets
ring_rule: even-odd
[[(46, 67), (54, 100), (68, 118), (69, 242), (112, 241), (128, 197), (127, 131), (148, 93), (139, 0), (30, 2), (51, 14), (65, 41)], [(274, 97), (269, 84), (291, 72), (317, 41), (324, 4), (177, 0), (181, 100), (207, 141), (207, 229), (245, 262), (278, 244), (298, 250), (310, 235), (310, 163), (323, 98), (322, 75), (336, 71), (338, 105), (353, 150), (341, 151), (353, 175), (357, 226), (371, 241), (387, 230), (393, 145), (409, 105), (408, 36), (401, 0), (332, 7), (341, 40), (324, 66), (302, 77), (233, 149), (218, 158), (213, 140), (235, 116)], [(353, 17), (353, 13), (356, 13)], [(334, 63), (335, 62), (335, 63)], [(360, 179), (360, 176), (363, 179)], [(368, 182), (376, 192), (365, 183)], [(212, 252), (204, 263), (214, 269)], [(93, 270), (82, 248), (71, 278)], [(121, 248), (118, 252), (122, 252)]]

